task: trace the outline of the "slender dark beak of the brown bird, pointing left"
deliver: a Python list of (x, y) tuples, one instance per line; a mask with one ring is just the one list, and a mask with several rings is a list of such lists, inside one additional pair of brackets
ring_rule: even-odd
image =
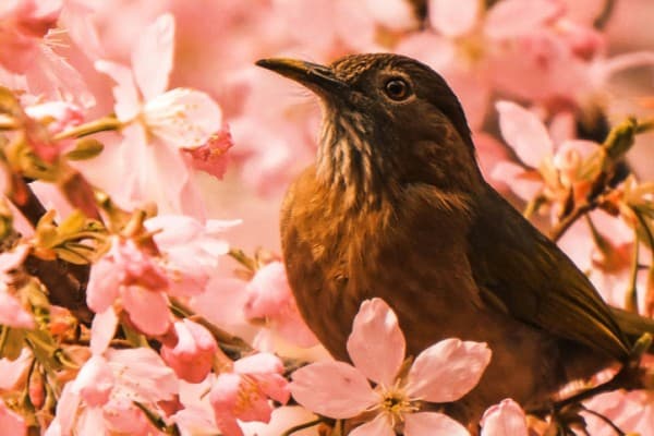
[(296, 59), (271, 58), (256, 61), (258, 66), (275, 71), (289, 77), (322, 97), (344, 93), (349, 86), (339, 80), (329, 66), (305, 62)]

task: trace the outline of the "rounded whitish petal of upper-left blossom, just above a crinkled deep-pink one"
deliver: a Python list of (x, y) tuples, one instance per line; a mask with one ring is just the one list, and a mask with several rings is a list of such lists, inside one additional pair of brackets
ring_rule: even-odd
[(222, 125), (222, 111), (207, 94), (174, 88), (150, 99), (144, 109), (147, 130), (178, 148), (206, 143)]

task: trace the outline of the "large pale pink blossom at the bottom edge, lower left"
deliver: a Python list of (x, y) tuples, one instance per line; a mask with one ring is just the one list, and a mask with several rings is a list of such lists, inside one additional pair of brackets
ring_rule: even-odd
[(158, 434), (134, 401), (161, 413), (157, 403), (177, 391), (177, 377), (155, 351), (108, 350), (92, 356), (64, 386), (46, 436)]

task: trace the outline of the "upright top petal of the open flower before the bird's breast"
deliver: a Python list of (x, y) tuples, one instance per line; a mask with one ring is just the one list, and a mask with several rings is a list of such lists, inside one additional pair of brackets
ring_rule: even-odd
[(366, 300), (354, 317), (348, 338), (352, 363), (368, 379), (391, 386), (404, 361), (404, 335), (398, 317), (382, 299)]

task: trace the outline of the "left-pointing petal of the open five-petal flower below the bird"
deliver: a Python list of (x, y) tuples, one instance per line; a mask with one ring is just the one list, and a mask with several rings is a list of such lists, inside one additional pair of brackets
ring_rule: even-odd
[(293, 398), (312, 412), (347, 419), (379, 401), (365, 376), (343, 362), (317, 362), (292, 374)]

